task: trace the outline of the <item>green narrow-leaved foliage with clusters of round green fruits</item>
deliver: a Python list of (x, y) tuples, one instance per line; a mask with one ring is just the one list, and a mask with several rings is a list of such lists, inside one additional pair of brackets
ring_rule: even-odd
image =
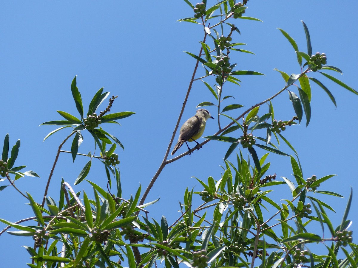
[[(240, 34), (240, 30), (228, 21), (260, 20), (243, 15), (246, 14), (247, 0), (243, 3), (223, 0), (213, 6), (209, 6), (206, 1), (195, 6), (188, 0), (184, 1), (192, 9), (190, 12), (193, 13), (193, 17), (179, 21), (195, 23), (203, 27), (204, 33), (199, 53), (186, 52), (196, 60), (188, 93), (195, 81), (202, 81), (213, 100), (203, 101), (198, 107), (216, 106), (218, 111), (217, 133), (208, 136), (200, 145), (211, 140), (229, 143), (224, 157), (223, 173), (219, 179), (214, 179), (215, 176), (209, 177), (207, 182), (197, 179), (203, 187), (202, 191), (186, 189), (180, 202), (182, 215), (174, 223), (169, 225), (164, 216), (160, 220), (149, 220), (144, 208), (158, 200), (144, 202), (161, 170), (165, 165), (190, 154), (195, 148), (168, 160), (174, 133), (164, 160), (145, 192), (141, 195), (139, 187), (130, 200), (123, 199), (118, 168), (120, 160), (115, 153), (117, 145), (122, 148), (123, 145), (116, 137), (105, 131), (102, 125), (117, 123), (117, 120), (134, 113), (125, 111), (108, 114), (116, 99), (112, 96), (107, 108), (97, 114), (98, 107), (109, 96), (109, 93), (103, 92), (101, 88), (93, 96), (87, 114), (84, 114), (75, 77), (71, 84), (71, 92), (79, 117), (58, 111), (65, 120), (43, 123), (42, 125), (61, 126), (51, 131), (44, 140), (59, 130), (71, 128), (71, 132), (59, 146), (54, 167), (62, 152), (62, 145), (73, 136), (70, 152), (73, 161), (77, 155), (89, 158), (74, 184), (86, 180), (92, 159), (97, 158), (105, 165), (108, 187), (102, 189), (86, 180), (93, 187), (93, 194), (90, 197), (89, 193), (84, 191), (75, 193), (71, 185), (62, 180), (61, 197), (56, 203), (47, 194), (52, 176), (50, 175), (42, 204), (36, 203), (30, 193), (25, 195), (18, 190), (28, 199), (34, 213), (33, 218), (20, 222), (35, 220), (37, 226), (25, 226), (20, 222), (11, 223), (0, 219), (8, 225), (0, 235), (13, 227), (17, 231), (7, 232), (34, 238), (34, 245), (26, 246), (33, 259), (33, 263), (28, 263), (29, 267), (122, 267), (121, 262), (125, 262), (125, 265), (128, 264), (131, 268), (149, 268), (159, 262), (165, 267), (175, 268), (179, 267), (179, 264), (186, 264), (188, 267), (357, 267), (358, 246), (352, 242), (352, 231), (348, 230), (351, 223), (348, 220), (348, 212), (352, 192), (342, 215), (342, 223), (334, 227), (326, 213), (327, 209), (333, 212), (334, 209), (319, 199), (320, 195), (342, 197), (338, 193), (321, 190), (324, 182), (334, 175), (322, 178), (311, 175), (304, 179), (305, 172), (297, 155), (294, 156), (296, 151), (282, 135), (282, 131), (297, 124), (297, 121), (300, 123), (304, 117), (306, 125), (309, 124), (312, 96), (310, 81), (322, 88), (334, 105), (337, 105), (330, 90), (312, 75), (319, 73), (354, 94), (358, 92), (325, 73), (327, 70), (337, 73), (342, 71), (335, 66), (326, 65), (327, 56), (324, 53), (312, 54), (309, 30), (302, 22), (307, 43), (306, 52), (300, 51), (295, 40), (285, 30), (279, 29), (294, 48), (301, 73), (289, 75), (276, 69), (285, 81), (284, 88), (270, 98), (265, 98), (240, 112), (236, 119), (226, 115), (227, 111), (241, 110), (243, 105), (230, 102), (232, 96), (224, 95), (225, 85), (232, 83), (240, 86), (241, 81), (237, 78), (239, 75), (263, 75), (257, 71), (236, 70), (237, 64), (233, 63), (235, 53), (252, 52), (237, 49), (243, 43), (234, 43), (233, 40), (235, 35)], [(209, 26), (209, 22), (215, 19), (218, 22)], [(203, 66), (204, 74), (195, 78), (199, 63)], [(214, 85), (208, 83), (208, 79), (212, 77), (216, 81)], [(271, 100), (285, 91), (293, 109), (287, 112), (285, 119), (275, 119)], [(266, 105), (268, 110), (263, 111)], [(183, 109), (184, 107), (185, 103)], [(241, 119), (243, 121), (239, 123)], [(225, 120), (228, 120), (227, 125), (223, 126)], [(175, 129), (177, 128), (178, 125)], [(260, 137), (263, 130), (265, 137)], [(100, 149), (100, 155), (78, 153), (83, 141), (81, 131), (91, 133), (95, 148)], [(278, 145), (273, 142), (272, 136), (275, 137), (277, 144), (284, 141), (294, 154), (281, 152)], [(239, 145), (243, 150), (248, 150), (251, 158), (246, 159), (241, 149), (238, 149), (239, 153), (236, 156), (233, 155)], [(0, 160), (1, 176), (14, 187), (14, 181), (24, 175), (37, 176), (33, 171), (21, 173), (20, 170), (25, 166), (14, 167), (19, 147), (18, 140), (9, 158), (9, 135), (6, 135)], [(260, 149), (269, 153), (259, 159), (256, 150)], [(279, 181), (276, 180), (276, 174), (268, 174), (270, 162), (266, 160), (270, 153), (290, 158), (292, 178), (283, 177), (283, 181)], [(15, 175), (13, 180), (10, 175)], [(279, 191), (282, 184), (288, 186), (289, 192), (287, 191), (288, 194), (282, 199), (282, 203), (278, 204), (270, 199), (268, 194)], [(6, 185), (1, 186), (0, 190), (5, 187)], [(81, 194), (82, 200), (79, 199)], [(197, 198), (193, 197), (196, 195), (201, 197), (202, 204), (195, 201)], [(262, 211), (263, 209), (269, 213)], [(275, 217), (279, 217), (276, 223), (273, 222)], [(315, 223), (320, 225), (324, 237), (317, 234)], [(311, 243), (319, 242), (319, 249), (310, 249)], [(348, 246), (350, 252), (346, 249)], [(326, 253), (317, 253), (322, 251)], [(343, 252), (345, 259), (339, 259), (340, 252)]]

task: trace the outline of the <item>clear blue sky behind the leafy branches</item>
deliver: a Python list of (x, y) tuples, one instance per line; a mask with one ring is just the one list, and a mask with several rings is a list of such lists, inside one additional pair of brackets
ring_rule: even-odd
[[(208, 1), (210, 2), (210, 1)], [(195, 4), (194, 2), (192, 2)], [(287, 73), (299, 73), (300, 67), (289, 42), (276, 28), (287, 31), (297, 42), (301, 51), (306, 51), (305, 35), (300, 20), (305, 21), (311, 34), (314, 52), (325, 53), (328, 64), (339, 67), (343, 75), (335, 75), (356, 90), (357, 47), (357, 1), (248, 1), (247, 16), (258, 21), (235, 20), (240, 29), (234, 41), (246, 43), (247, 49), (255, 53), (232, 53), (238, 63), (237, 70), (254, 70), (266, 76), (241, 77), (242, 86), (231, 86), (228, 95), (234, 95), (233, 103), (250, 107), (284, 86), (274, 68)], [(41, 178), (26, 177), (16, 183), (40, 202), (45, 183), (52, 167), (58, 145), (67, 136), (63, 130), (44, 143), (43, 138), (55, 129), (38, 126), (44, 121), (61, 120), (56, 110), (77, 115), (70, 85), (77, 76), (77, 86), (87, 107), (93, 94), (104, 86), (111, 95), (118, 95), (112, 111), (134, 111), (136, 114), (120, 121), (121, 126), (105, 126), (124, 144), (125, 150), (117, 150), (121, 160), (123, 197), (130, 198), (139, 184), (146, 188), (158, 169), (168, 146), (178, 118), (189, 80), (194, 68), (193, 58), (183, 53), (198, 54), (202, 40), (202, 29), (192, 23), (179, 23), (178, 19), (192, 16), (193, 12), (184, 1), (3, 1), (0, 4), (0, 83), (2, 123), (0, 141), (6, 133), (11, 146), (21, 140), (17, 165), (26, 165)], [(199, 73), (203, 69), (200, 68)], [(320, 79), (337, 100), (337, 109), (328, 96), (318, 88), (312, 89), (312, 118), (308, 128), (305, 119), (301, 125), (287, 128), (283, 133), (296, 148), (304, 171), (304, 178), (316, 174), (319, 178), (337, 174), (323, 184), (322, 190), (332, 190), (345, 199), (331, 198), (330, 204), (337, 215), (330, 214), (334, 225), (340, 223), (350, 192), (358, 189), (355, 178), (357, 162), (357, 115), (358, 96)], [(183, 120), (195, 114), (196, 105), (202, 101), (213, 101), (205, 86), (194, 84), (184, 111)], [(288, 120), (293, 109), (288, 94), (274, 101), (276, 118)], [(106, 105), (103, 104), (103, 110)], [(209, 107), (217, 118), (217, 111)], [(261, 115), (267, 112), (265, 105)], [(232, 111), (235, 116), (241, 110)], [(217, 123), (208, 121), (205, 135), (217, 131)], [(93, 152), (92, 138), (84, 133), (84, 142), (79, 152)], [(178, 135), (176, 135), (175, 140)], [(0, 143), (2, 144), (2, 142)], [(70, 145), (66, 145), (68, 149)], [(168, 222), (178, 218), (178, 201), (183, 200), (186, 187), (202, 187), (191, 178), (204, 181), (208, 176), (220, 178), (220, 165), (229, 144), (209, 142), (203, 149), (194, 152), (170, 165), (161, 173), (147, 201), (160, 197), (160, 201), (149, 207), (150, 217), (165, 215)], [(183, 147), (185, 148), (185, 147)], [(179, 153), (185, 151), (180, 149)], [(237, 147), (239, 148), (239, 147)], [(282, 145), (281, 150), (293, 154)], [(247, 154), (247, 151), (244, 150)], [(258, 150), (259, 155), (265, 152)], [(82, 167), (88, 160), (77, 157), (74, 164), (70, 154), (61, 154), (55, 169), (50, 193), (58, 197), (61, 177), (73, 185)], [(268, 174), (276, 173), (278, 179), (292, 180), (289, 158), (271, 155)], [(96, 162), (95, 162), (96, 163)], [(92, 164), (87, 177), (105, 187), (106, 176), (101, 163)], [(1, 182), (5, 185), (6, 182)], [(75, 187), (91, 193), (88, 183)], [(282, 190), (281, 190), (282, 189)], [(275, 192), (276, 197), (290, 199), (288, 187)], [(280, 194), (278, 194), (280, 193)], [(328, 200), (327, 197), (318, 197)], [(277, 199), (277, 200), (279, 200)], [(32, 210), (27, 200), (11, 187), (0, 192), (0, 218), (17, 221), (31, 217)], [(357, 204), (354, 195), (353, 204)], [(358, 233), (357, 216), (351, 229)], [(5, 227), (0, 224), (0, 229)], [(21, 245), (33, 245), (31, 238), (19, 238), (8, 234), (0, 237), (1, 267), (25, 267), (30, 262), (29, 254)], [(11, 266), (10, 266), (11, 265)]]

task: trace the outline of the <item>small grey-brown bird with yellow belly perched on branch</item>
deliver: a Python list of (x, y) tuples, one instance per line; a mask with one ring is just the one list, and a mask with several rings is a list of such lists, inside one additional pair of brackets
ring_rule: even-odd
[[(196, 141), (196, 139), (199, 139), (203, 135), (206, 120), (208, 118), (214, 119), (209, 114), (208, 110), (199, 109), (193, 117), (190, 117), (187, 121), (185, 121), (185, 123), (180, 128), (179, 139), (178, 142), (175, 144), (174, 150), (173, 152), (171, 152), (171, 155), (173, 155), (180, 147), (182, 147), (184, 143), (187, 144), (189, 151), (190, 148), (187, 142), (196, 142), (196, 146), (198, 146), (199, 143)], [(199, 150), (200, 148), (202, 147), (197, 148), (197, 150)]]

